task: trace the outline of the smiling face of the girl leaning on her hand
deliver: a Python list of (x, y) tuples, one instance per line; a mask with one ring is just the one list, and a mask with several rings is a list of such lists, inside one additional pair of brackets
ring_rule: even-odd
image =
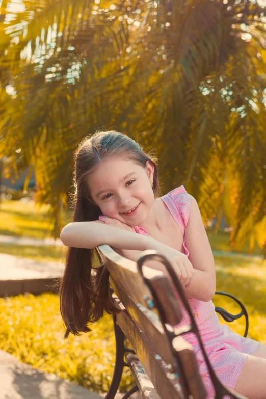
[[(138, 226), (146, 220), (154, 203), (151, 188), (153, 171), (154, 166), (149, 161), (143, 168), (135, 161), (104, 159), (87, 176), (92, 200), (103, 215), (130, 226)], [(135, 207), (134, 211), (126, 213)]]

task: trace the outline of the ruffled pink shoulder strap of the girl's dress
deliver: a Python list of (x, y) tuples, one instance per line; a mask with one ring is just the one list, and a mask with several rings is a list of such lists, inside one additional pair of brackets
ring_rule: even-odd
[(182, 225), (182, 230), (187, 226), (190, 212), (190, 195), (183, 185), (163, 195), (161, 199), (166, 203), (169, 210)]

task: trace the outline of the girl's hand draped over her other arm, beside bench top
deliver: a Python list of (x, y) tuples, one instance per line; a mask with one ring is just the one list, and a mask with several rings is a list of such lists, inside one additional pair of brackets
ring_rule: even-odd
[(156, 240), (154, 240), (152, 248), (149, 249), (155, 249), (159, 252), (159, 254), (165, 256), (166, 259), (173, 265), (174, 271), (176, 272), (180, 283), (186, 288), (190, 287), (190, 280), (194, 276), (195, 270), (187, 255)]

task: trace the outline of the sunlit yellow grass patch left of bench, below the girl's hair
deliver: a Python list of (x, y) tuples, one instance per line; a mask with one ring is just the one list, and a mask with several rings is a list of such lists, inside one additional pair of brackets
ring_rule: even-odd
[[(91, 391), (108, 390), (115, 365), (111, 316), (105, 315), (90, 333), (64, 340), (58, 295), (2, 298), (0, 309), (0, 349)], [(131, 383), (126, 369), (121, 389)]]

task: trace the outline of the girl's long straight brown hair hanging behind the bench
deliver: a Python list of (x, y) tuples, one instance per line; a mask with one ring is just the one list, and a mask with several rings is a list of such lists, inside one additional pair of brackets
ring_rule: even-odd
[[(119, 157), (136, 161), (146, 167), (150, 161), (154, 165), (153, 192), (156, 198), (159, 192), (156, 157), (152, 151), (145, 153), (141, 146), (128, 136), (117, 131), (97, 132), (82, 141), (75, 153), (73, 198), (73, 222), (98, 220), (100, 208), (87, 198), (91, 198), (85, 177), (97, 168), (103, 159)], [(98, 261), (97, 261), (98, 260)], [(98, 264), (97, 264), (98, 263)], [(101, 264), (97, 248), (69, 247), (66, 267), (60, 285), (60, 311), (66, 326), (65, 338), (71, 332), (91, 331), (88, 324), (103, 316), (117, 313), (109, 287), (109, 272)]]

